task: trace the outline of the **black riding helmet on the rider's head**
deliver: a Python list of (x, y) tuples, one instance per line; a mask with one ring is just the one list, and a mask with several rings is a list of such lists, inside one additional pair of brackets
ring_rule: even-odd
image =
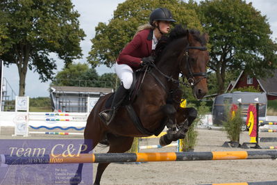
[(173, 19), (171, 12), (167, 8), (157, 8), (153, 10), (149, 17), (150, 25), (152, 25), (154, 21), (176, 22), (176, 20)]

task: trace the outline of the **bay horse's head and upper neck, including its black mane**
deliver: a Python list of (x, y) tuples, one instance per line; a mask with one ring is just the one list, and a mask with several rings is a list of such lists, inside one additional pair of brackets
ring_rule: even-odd
[[(169, 34), (159, 40), (156, 47), (156, 65), (169, 81), (178, 81), (179, 74), (187, 78), (197, 99), (208, 93), (206, 65), (209, 60), (208, 34), (188, 30), (176, 25)], [(166, 74), (166, 75), (165, 75)]]

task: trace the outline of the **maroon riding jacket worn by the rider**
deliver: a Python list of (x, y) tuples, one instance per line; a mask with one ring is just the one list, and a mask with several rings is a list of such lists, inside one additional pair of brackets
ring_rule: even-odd
[(151, 29), (144, 29), (137, 33), (121, 51), (117, 63), (129, 65), (133, 70), (139, 69), (141, 59), (151, 55), (152, 39), (153, 30)]

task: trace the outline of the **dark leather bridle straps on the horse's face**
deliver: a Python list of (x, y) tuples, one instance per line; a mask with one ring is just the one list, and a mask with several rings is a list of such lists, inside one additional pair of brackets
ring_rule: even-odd
[[(207, 47), (191, 47), (189, 45), (185, 48), (185, 52), (184, 52), (183, 56), (185, 57), (185, 63), (187, 63), (187, 66), (188, 66), (187, 67), (187, 70), (188, 70), (187, 81), (190, 83), (190, 86), (192, 86), (192, 88), (193, 88), (202, 79), (207, 78), (207, 72), (192, 72), (192, 66), (191, 66), (192, 58), (190, 58), (189, 49), (198, 49), (200, 51), (206, 51)], [(182, 58), (181, 62), (183, 61), (183, 58)], [(195, 81), (194, 77), (201, 77), (201, 78), (198, 79), (197, 81)]]

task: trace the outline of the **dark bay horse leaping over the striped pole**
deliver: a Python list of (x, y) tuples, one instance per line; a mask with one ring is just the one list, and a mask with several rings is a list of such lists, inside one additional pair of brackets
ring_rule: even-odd
[[(184, 121), (185, 109), (179, 108), (181, 95), (170, 93), (178, 91), (180, 73), (187, 78), (197, 99), (208, 92), (205, 78), (209, 60), (205, 47), (207, 41), (208, 34), (201, 35), (199, 31), (188, 30), (180, 25), (175, 26), (167, 40), (159, 41), (155, 64), (146, 73), (140, 92), (132, 103), (144, 128), (155, 133), (172, 116), (172, 119), (177, 119), (177, 124)], [(134, 137), (149, 136), (135, 127), (124, 106), (119, 108), (108, 126), (101, 122), (99, 113), (104, 110), (109, 97), (110, 94), (101, 97), (87, 118), (84, 138), (92, 140), (92, 145), (83, 153), (90, 152), (104, 138), (110, 145), (108, 153), (123, 153), (131, 148)], [(174, 101), (170, 102), (169, 97)], [(94, 184), (100, 184), (108, 165), (99, 163)], [(80, 163), (76, 175), (70, 180), (71, 184), (81, 182), (82, 168), (83, 163)]]

